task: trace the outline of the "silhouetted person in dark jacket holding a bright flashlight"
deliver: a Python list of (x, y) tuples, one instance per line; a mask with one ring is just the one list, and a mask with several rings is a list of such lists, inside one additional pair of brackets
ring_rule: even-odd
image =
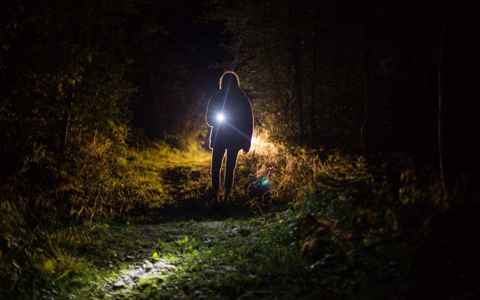
[(211, 188), (214, 200), (218, 200), (220, 168), (226, 151), (223, 200), (228, 199), (233, 185), (233, 173), (238, 152), (250, 150), (253, 135), (251, 104), (240, 88), (238, 76), (233, 71), (224, 72), (219, 81), (220, 90), (212, 95), (206, 109), (206, 123), (210, 132)]

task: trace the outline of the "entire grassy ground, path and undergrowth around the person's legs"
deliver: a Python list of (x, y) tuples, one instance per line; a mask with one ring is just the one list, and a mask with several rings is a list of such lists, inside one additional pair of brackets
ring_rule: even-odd
[[(278, 144), (263, 132), (250, 153), (239, 155), (231, 199), (213, 213), (209, 159), (203, 149), (162, 143), (86, 155), (95, 172), (84, 163), (68, 173), (57, 170), (56, 192), (68, 197), (52, 206), (46, 204), (54, 200), (39, 198), (44, 215), (35, 226), (14, 201), (2, 200), (7, 221), (0, 275), (11, 283), (2, 285), (8, 286), (2, 295), (363, 299), (474, 293), (468, 282), (477, 282), (475, 276), (457, 283), (465, 268), (445, 275), (445, 265), (464, 262), (456, 246), (436, 241), (454, 236), (441, 229), (449, 202), (429, 196), (440, 186), (425, 188), (411, 167), (398, 169), (395, 185), (361, 159)], [(436, 254), (440, 246), (449, 254)], [(440, 257), (445, 264), (435, 262)], [(442, 276), (432, 278), (450, 278), (457, 289), (425, 279), (435, 270)]]

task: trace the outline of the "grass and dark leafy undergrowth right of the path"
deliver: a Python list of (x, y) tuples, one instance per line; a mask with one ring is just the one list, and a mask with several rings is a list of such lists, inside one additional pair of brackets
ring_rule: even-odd
[[(268, 190), (250, 200), (252, 208), (261, 213), (262, 203), (289, 203), (272, 223), (296, 227), (298, 253), (310, 261), (310, 268), (339, 278), (334, 284), (343, 296), (471, 291), (478, 277), (466, 261), (477, 261), (470, 251), (478, 249), (472, 238), (478, 211), (472, 209), (474, 192), (463, 180), (445, 196), (431, 170), (420, 171), (399, 155), (372, 167), (338, 151), (288, 147), (266, 136), (255, 135), (249, 160), (243, 161), (253, 162), (256, 178), (269, 178)], [(453, 228), (471, 235), (460, 238)], [(461, 279), (465, 272), (467, 281)], [(409, 276), (431, 289), (417, 290)], [(445, 289), (435, 281), (455, 287)], [(321, 279), (316, 282), (323, 286)]]

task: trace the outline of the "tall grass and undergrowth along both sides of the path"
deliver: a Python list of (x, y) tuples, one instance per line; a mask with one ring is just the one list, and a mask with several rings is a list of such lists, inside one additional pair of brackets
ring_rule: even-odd
[[(183, 151), (153, 142), (141, 149), (85, 149), (61, 160), (36, 146), (18, 173), (2, 182), (0, 279), (6, 284), (0, 296), (26, 296), (52, 282), (74, 284), (74, 275), (88, 267), (82, 253), (105, 248), (108, 223), (145, 219), (174, 203), (180, 190), (198, 198), (209, 185), (210, 156), (197, 147)], [(311, 259), (311, 267), (335, 261), (335, 276), (341, 277), (359, 263), (364, 272), (378, 267), (380, 274), (400, 275), (381, 263), (405, 264), (407, 253), (416, 251), (420, 237), (432, 232), (430, 224), (453, 203), (434, 177), (425, 184), (421, 177), (428, 174), (405, 161), (372, 171), (357, 157), (277, 142), (257, 130), (250, 152), (239, 155), (234, 192), (260, 214), (265, 206), (281, 204), (283, 211), (265, 216), (264, 225), (275, 223), (275, 230), (290, 232), (288, 238), (295, 228), (297, 251)], [(173, 170), (189, 184), (189, 168), (201, 170), (189, 189), (162, 173)], [(411, 224), (412, 218), (420, 221)], [(389, 256), (376, 261), (375, 253)], [(348, 280), (359, 279), (345, 279), (347, 289)]]

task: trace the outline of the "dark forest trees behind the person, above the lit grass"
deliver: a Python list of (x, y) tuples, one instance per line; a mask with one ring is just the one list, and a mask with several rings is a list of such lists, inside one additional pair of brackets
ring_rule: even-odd
[[(5, 1), (3, 163), (14, 169), (35, 143), (73, 149), (142, 131), (182, 147), (204, 142), (205, 105), (233, 68), (257, 126), (272, 136), (373, 160), (401, 154), (438, 169), (441, 60), (442, 161), (454, 184), (478, 173), (477, 8), (450, 1)], [(96, 105), (98, 91), (104, 103)]]

